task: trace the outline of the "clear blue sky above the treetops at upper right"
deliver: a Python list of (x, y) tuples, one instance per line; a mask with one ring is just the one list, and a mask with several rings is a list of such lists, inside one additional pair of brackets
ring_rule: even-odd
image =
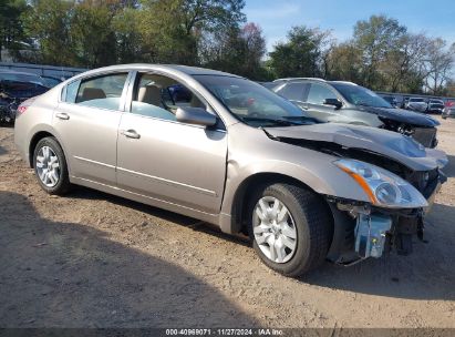
[(348, 40), (355, 22), (372, 14), (397, 19), (410, 32), (455, 42), (455, 0), (246, 0), (244, 12), (262, 28), (268, 51), (300, 24), (331, 30), (339, 42)]

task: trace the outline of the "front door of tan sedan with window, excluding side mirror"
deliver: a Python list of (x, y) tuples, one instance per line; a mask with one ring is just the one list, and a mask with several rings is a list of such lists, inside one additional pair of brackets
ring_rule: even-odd
[(117, 184), (151, 198), (216, 214), (226, 178), (224, 125), (176, 121), (177, 108), (210, 108), (184, 83), (138, 73), (118, 127)]

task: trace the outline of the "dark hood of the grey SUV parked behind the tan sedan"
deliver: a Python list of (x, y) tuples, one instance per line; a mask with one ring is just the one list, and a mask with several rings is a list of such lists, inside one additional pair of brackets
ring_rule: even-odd
[(404, 109), (396, 108), (373, 108), (373, 106), (362, 106), (362, 110), (378, 114), (380, 118), (393, 120), (406, 124), (434, 127), (440, 125), (440, 122), (431, 116)]

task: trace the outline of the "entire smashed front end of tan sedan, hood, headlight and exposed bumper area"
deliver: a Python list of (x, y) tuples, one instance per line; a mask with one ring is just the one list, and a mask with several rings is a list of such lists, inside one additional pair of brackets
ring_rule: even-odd
[(350, 265), (394, 251), (412, 253), (412, 238), (423, 241), (424, 215), (446, 182), (446, 155), (411, 137), (362, 126), (268, 129), (275, 141), (323, 152), (354, 178), (370, 202), (327, 196), (334, 221), (328, 258)]

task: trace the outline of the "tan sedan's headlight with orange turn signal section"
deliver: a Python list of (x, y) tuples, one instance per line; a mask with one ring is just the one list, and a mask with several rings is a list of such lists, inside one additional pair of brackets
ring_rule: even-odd
[(413, 185), (384, 168), (356, 160), (339, 160), (334, 164), (362, 187), (375, 206), (387, 208), (427, 206), (426, 200)]

